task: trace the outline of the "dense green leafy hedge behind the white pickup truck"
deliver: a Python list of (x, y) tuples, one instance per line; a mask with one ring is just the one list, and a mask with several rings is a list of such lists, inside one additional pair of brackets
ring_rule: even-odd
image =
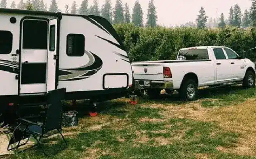
[(131, 61), (174, 60), (180, 48), (194, 46), (227, 46), (239, 55), (256, 60), (256, 30), (226, 27), (141, 28), (132, 24), (114, 25), (128, 51)]

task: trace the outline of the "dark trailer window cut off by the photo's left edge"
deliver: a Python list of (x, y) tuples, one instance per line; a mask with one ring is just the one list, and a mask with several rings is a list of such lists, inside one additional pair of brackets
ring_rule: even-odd
[(10, 31), (0, 31), (0, 54), (9, 54), (13, 46), (13, 34)]

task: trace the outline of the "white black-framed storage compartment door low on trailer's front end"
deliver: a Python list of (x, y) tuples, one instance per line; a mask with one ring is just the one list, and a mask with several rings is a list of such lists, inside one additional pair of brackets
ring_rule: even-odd
[(105, 74), (103, 75), (103, 89), (127, 88), (128, 79), (127, 73)]

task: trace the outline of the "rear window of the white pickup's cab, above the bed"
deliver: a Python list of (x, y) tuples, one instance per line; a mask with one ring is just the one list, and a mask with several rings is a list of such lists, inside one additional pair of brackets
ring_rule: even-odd
[(180, 50), (177, 60), (208, 60), (207, 49)]

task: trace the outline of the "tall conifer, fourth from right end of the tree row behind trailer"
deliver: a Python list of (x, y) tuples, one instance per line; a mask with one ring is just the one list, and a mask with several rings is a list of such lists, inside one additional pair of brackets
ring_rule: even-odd
[(116, 0), (113, 23), (124, 23), (124, 8), (121, 0)]

